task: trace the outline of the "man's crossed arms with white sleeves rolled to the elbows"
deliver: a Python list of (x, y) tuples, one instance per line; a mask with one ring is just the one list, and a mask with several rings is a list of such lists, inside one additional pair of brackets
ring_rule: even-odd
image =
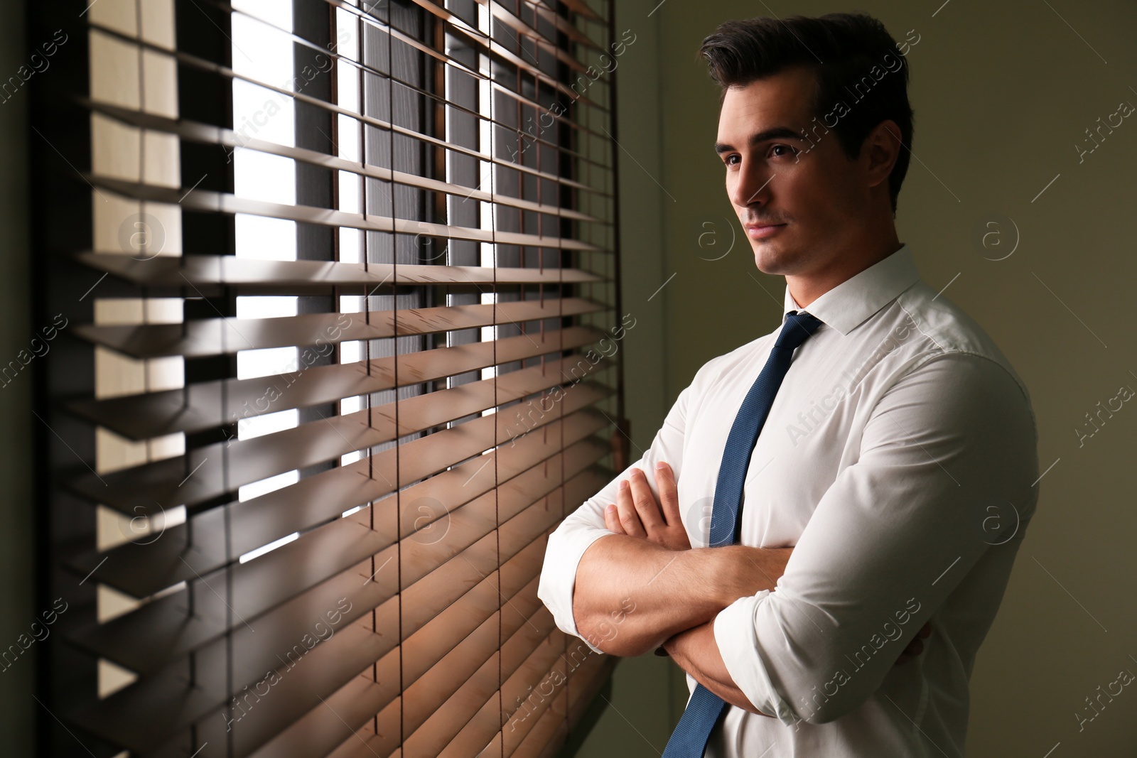
[[(662, 645), (723, 700), (789, 725), (862, 705), (894, 663), (920, 652), (926, 622), (972, 569), (969, 613), (994, 618), (1038, 480), (1029, 402), (1002, 366), (952, 352), (893, 384), (860, 433), (858, 458), (780, 550), (687, 542), (675, 480), (692, 463), (688, 390), (641, 461), (549, 535), (538, 595), (561, 630), (598, 652)], [(946, 634), (936, 640), (956, 644)], [(962, 639), (963, 656), (981, 641)]]

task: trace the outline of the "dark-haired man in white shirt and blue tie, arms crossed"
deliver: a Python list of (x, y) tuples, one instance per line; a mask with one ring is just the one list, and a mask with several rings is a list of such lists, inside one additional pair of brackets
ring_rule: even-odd
[(1037, 435), (1007, 359), (898, 241), (907, 63), (847, 14), (727, 23), (700, 52), (783, 323), (696, 373), (549, 536), (538, 594), (594, 650), (687, 672), (667, 758), (962, 756)]

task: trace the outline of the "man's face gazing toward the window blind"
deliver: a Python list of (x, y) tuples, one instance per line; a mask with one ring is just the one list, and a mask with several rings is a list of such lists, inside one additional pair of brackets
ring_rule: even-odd
[(813, 120), (815, 86), (807, 69), (787, 69), (729, 89), (719, 116), (727, 194), (766, 274), (823, 270), (855, 245), (870, 215), (865, 161), (846, 158), (836, 133)]

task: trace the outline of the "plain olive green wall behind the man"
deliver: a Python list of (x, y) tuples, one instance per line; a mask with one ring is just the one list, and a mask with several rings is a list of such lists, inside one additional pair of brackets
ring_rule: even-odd
[[(1038, 511), (976, 664), (968, 756), (1132, 756), (1137, 693), (1103, 698), (1080, 732), (1076, 713), (1092, 715), (1085, 699), (1121, 669), (1137, 673), (1137, 410), (1102, 413), (1080, 447), (1076, 428), (1093, 431), (1086, 414), (1122, 385), (1137, 390), (1137, 119), (1102, 128), (1080, 163), (1074, 145), (1093, 147), (1086, 130), (1120, 102), (1137, 106), (1134, 3), (620, 0), (616, 28), (637, 34), (616, 70), (624, 311), (639, 318), (623, 347), (636, 450), (700, 365), (781, 314), (785, 280), (755, 268), (731, 223), (711, 148), (717, 93), (698, 44), (730, 18), (838, 10), (919, 39), (898, 234), (923, 278), (998, 342), (1038, 418)], [(1004, 218), (984, 227), (991, 214)], [(994, 260), (1015, 227), (1014, 252)], [(987, 248), (981, 228), (996, 232)], [(686, 699), (672, 672), (652, 656), (622, 661), (612, 707), (576, 755), (661, 752)]]

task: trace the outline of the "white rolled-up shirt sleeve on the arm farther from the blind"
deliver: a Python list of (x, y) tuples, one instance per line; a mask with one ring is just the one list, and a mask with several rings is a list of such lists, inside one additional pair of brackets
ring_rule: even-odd
[(998, 363), (924, 358), (866, 413), (774, 591), (714, 622), (735, 683), (787, 725), (863, 703), (984, 553), (1018, 549), (1037, 501), (1034, 413)]

